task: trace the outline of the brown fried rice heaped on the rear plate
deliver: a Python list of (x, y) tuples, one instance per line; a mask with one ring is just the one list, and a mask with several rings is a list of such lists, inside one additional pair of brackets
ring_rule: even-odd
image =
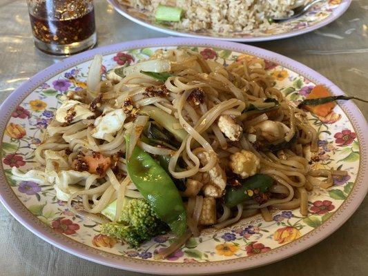
[(155, 13), (159, 4), (184, 10), (182, 20), (173, 23), (180, 30), (244, 32), (271, 26), (269, 18), (287, 17), (308, 0), (123, 0), (139, 10)]

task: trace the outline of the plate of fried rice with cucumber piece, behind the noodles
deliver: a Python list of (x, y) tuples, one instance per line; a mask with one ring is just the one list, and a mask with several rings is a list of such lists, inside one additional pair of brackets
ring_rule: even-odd
[[(182, 37), (239, 42), (269, 41), (316, 30), (340, 17), (351, 0), (325, 0), (300, 17), (293, 8), (309, 0), (108, 0), (124, 17), (147, 28)], [(163, 17), (162, 17), (163, 14)]]

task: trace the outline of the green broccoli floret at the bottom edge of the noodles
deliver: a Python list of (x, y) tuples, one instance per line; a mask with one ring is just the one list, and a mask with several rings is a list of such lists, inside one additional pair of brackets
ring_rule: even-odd
[[(113, 220), (116, 201), (111, 203), (101, 213)], [(101, 224), (101, 233), (127, 242), (137, 247), (151, 237), (165, 233), (168, 226), (157, 217), (151, 206), (144, 199), (130, 199), (124, 204), (122, 215), (117, 223)]]

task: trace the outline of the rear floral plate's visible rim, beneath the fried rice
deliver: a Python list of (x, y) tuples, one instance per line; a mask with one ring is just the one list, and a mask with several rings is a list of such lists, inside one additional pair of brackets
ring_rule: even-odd
[(317, 30), (338, 19), (351, 4), (351, 0), (325, 0), (316, 4), (301, 17), (275, 23), (270, 28), (258, 28), (251, 31), (232, 32), (222, 34), (213, 30), (177, 30), (173, 26), (163, 25), (155, 21), (154, 14), (147, 10), (139, 10), (130, 5), (128, 0), (107, 0), (119, 14), (144, 27), (180, 37), (197, 37), (206, 39), (220, 39), (238, 42), (269, 41), (294, 37), (299, 34)]

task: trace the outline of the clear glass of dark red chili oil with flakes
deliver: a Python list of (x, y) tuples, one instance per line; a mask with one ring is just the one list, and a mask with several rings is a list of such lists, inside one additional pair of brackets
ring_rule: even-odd
[(93, 0), (27, 0), (35, 46), (72, 55), (97, 42)]

